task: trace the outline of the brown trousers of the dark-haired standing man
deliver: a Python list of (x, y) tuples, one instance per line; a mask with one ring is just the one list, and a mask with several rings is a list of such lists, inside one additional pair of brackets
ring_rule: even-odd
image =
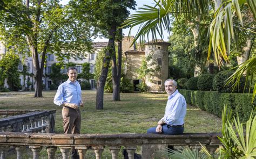
[(64, 134), (80, 134), (81, 113), (79, 109), (75, 110), (64, 106), (62, 118)]

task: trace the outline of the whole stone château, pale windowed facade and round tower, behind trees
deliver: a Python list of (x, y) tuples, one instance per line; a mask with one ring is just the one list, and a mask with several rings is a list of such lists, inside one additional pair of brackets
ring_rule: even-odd
[[(142, 82), (143, 80), (146, 82), (148, 89), (150, 91), (163, 91), (164, 90), (164, 81), (168, 78), (168, 46), (170, 44), (168, 42), (147, 42), (142, 48), (140, 45), (131, 45), (132, 40), (134, 37), (124, 37), (122, 41), (122, 51), (126, 56), (124, 61), (125, 63), (125, 70), (124, 73), (126, 77), (131, 80), (131, 83), (134, 85), (134, 91), (136, 91), (137, 85)], [(159, 41), (159, 40), (158, 40)], [(82, 73), (82, 64), (87, 62), (90, 63), (90, 73), (95, 72), (95, 63), (96, 63), (96, 56), (98, 52), (106, 47), (108, 42), (94, 42), (93, 48), (95, 49), (94, 53), (87, 53), (87, 56), (80, 60), (76, 58), (65, 59), (64, 63), (73, 62), (76, 63), (76, 67), (78, 69), (78, 74)], [(0, 42), (0, 60), (2, 56), (6, 53), (6, 48)], [(140, 79), (137, 73), (137, 69), (140, 69), (142, 66), (143, 59), (145, 57), (151, 57), (149, 61), (147, 61), (148, 67), (154, 69), (153, 75), (147, 75), (145, 79)], [(45, 89), (49, 90), (50, 85), (52, 84), (52, 80), (50, 77), (46, 76), (46, 74), (50, 74), (52, 71), (52, 64), (57, 63), (57, 56), (54, 54), (47, 54), (45, 69), (44, 69), (44, 77), (42, 79), (43, 84), (45, 85)], [(28, 73), (33, 73), (33, 63), (32, 57), (26, 57), (24, 62), (20, 62), (18, 69), (20, 71), (23, 70), (23, 64), (28, 67)], [(61, 70), (62, 73), (66, 73), (66, 68)], [(33, 82), (32, 76), (26, 76), (23, 79), (23, 75), (19, 77), (19, 81), (23, 86), (23, 90), (28, 88), (27, 82)], [(91, 83), (91, 89), (96, 88), (96, 81), (95, 79), (90, 79), (89, 82)], [(8, 85), (5, 82), (5, 87), (8, 88)], [(30, 86), (29, 89), (33, 88), (33, 84)]]

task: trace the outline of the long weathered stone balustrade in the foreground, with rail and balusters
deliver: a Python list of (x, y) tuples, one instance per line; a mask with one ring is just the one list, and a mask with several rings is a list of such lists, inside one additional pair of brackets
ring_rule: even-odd
[(62, 158), (70, 158), (71, 148), (78, 150), (80, 159), (85, 158), (87, 149), (95, 152), (96, 158), (102, 157), (105, 147), (108, 147), (112, 158), (118, 158), (121, 146), (124, 146), (129, 158), (133, 158), (137, 146), (142, 146), (142, 158), (155, 158), (159, 150), (167, 146), (206, 146), (211, 152), (215, 151), (221, 143), (216, 133), (191, 133), (182, 135), (158, 134), (50, 134), (50, 133), (0, 133), (1, 158), (6, 158), (9, 147), (15, 147), (17, 158), (22, 158), (24, 147), (33, 152), (33, 159), (39, 158), (42, 147), (46, 147), (48, 158), (55, 158), (56, 149), (59, 148)]

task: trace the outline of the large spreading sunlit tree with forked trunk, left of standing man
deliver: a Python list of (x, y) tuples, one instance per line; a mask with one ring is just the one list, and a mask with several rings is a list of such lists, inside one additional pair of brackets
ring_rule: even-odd
[(1, 2), (0, 40), (5, 41), (10, 51), (32, 56), (35, 97), (42, 97), (46, 53), (56, 54), (61, 61), (90, 51), (90, 23), (77, 20), (74, 9), (70, 5), (64, 8), (58, 0)]

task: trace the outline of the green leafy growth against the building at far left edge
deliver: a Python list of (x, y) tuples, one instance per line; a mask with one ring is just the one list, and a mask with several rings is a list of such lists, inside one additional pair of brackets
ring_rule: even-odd
[(4, 85), (4, 79), (7, 78), (9, 89), (18, 91), (21, 89), (19, 83), (19, 56), (14, 53), (6, 53), (3, 59), (0, 61), (1, 70), (1, 82), (0, 86)]

